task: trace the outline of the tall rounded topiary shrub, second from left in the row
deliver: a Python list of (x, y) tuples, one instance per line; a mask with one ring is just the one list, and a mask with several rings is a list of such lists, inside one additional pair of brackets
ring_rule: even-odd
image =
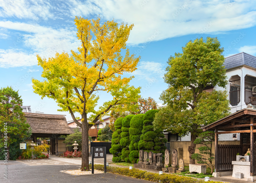
[(123, 118), (122, 121), (122, 133), (121, 133), (121, 139), (120, 139), (120, 145), (123, 147), (121, 152), (121, 160), (124, 160), (125, 162), (130, 162), (128, 156), (130, 154), (129, 145), (131, 143), (130, 141), (130, 134), (129, 134), (129, 128), (130, 128), (130, 121), (133, 118), (134, 115), (127, 115)]

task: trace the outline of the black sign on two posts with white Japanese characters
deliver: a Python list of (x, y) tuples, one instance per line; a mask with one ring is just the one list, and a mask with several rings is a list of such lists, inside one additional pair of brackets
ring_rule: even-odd
[(94, 158), (104, 158), (104, 173), (106, 173), (106, 147), (92, 147), (92, 174), (94, 174)]

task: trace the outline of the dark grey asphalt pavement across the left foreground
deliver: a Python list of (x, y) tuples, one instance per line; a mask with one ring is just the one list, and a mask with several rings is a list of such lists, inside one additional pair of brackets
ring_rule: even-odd
[[(8, 179), (5, 179), (4, 168), (7, 165)], [(150, 182), (132, 177), (116, 175), (112, 173), (90, 174), (90, 175), (69, 175), (62, 173), (63, 170), (78, 169), (80, 165), (28, 165), (20, 161), (9, 160), (7, 164), (0, 161), (0, 182), (11, 183), (40, 183), (40, 182), (58, 182), (58, 183), (76, 183), (76, 182)]]

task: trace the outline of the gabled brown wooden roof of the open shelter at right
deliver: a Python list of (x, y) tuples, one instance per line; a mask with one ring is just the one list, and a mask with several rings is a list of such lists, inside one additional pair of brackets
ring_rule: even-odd
[(227, 131), (227, 133), (250, 133), (250, 126), (256, 126), (254, 122), (251, 124), (251, 115), (253, 119), (256, 118), (256, 109), (245, 108), (206, 125), (202, 129), (203, 131), (218, 129), (218, 131)]

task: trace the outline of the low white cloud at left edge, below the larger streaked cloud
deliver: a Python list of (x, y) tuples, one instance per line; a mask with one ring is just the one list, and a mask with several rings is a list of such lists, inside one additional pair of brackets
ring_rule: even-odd
[(0, 68), (37, 65), (36, 54), (25, 53), (24, 50), (0, 49)]

